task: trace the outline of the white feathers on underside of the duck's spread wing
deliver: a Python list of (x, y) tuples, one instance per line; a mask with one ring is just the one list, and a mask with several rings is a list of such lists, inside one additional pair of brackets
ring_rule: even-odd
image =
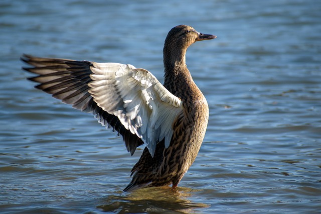
[(144, 69), (118, 63), (93, 63), (90, 69), (89, 93), (97, 105), (141, 138), (151, 156), (164, 138), (168, 148), (181, 100)]

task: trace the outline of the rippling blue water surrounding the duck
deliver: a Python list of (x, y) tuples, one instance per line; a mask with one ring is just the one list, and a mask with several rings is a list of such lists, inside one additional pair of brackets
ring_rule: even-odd
[[(0, 3), (1, 213), (320, 213), (321, 3)], [(22, 53), (128, 63), (163, 81), (179, 24), (218, 39), (187, 64), (210, 106), (200, 153), (180, 182), (122, 192), (142, 148), (33, 88)]]

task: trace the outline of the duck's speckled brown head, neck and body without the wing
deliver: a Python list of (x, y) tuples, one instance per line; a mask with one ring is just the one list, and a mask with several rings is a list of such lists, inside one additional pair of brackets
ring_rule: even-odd
[(165, 40), (164, 86), (182, 99), (184, 113), (173, 124), (174, 133), (169, 148), (165, 148), (164, 143), (158, 143), (154, 157), (144, 149), (131, 170), (132, 181), (124, 191), (140, 186), (173, 184), (176, 187), (200, 150), (207, 128), (209, 108), (187, 69), (185, 55), (187, 48), (194, 42), (214, 39), (216, 36), (204, 35), (202, 39), (199, 35), (192, 27), (181, 25), (173, 28)]

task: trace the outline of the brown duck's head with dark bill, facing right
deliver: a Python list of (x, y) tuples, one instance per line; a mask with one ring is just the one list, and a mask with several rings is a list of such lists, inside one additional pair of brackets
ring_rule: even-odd
[(181, 49), (187, 49), (197, 41), (211, 40), (217, 38), (215, 35), (202, 34), (194, 28), (187, 25), (179, 25), (169, 32), (166, 37), (165, 45), (177, 46)]

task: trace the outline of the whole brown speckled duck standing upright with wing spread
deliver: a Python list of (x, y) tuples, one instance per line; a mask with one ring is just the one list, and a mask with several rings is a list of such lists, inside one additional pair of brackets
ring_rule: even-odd
[(131, 155), (145, 144), (124, 191), (173, 184), (194, 162), (207, 128), (207, 101), (185, 63), (187, 48), (215, 39), (186, 25), (174, 27), (164, 45), (164, 86), (147, 70), (119, 63), (95, 63), (23, 55), (37, 74), (30, 80), (76, 109), (91, 112), (122, 135)]

